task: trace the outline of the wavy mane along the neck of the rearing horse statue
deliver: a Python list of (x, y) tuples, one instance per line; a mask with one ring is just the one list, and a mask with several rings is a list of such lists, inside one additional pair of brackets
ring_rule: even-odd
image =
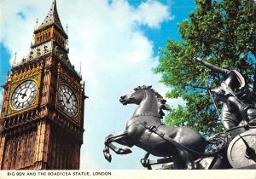
[(170, 110), (170, 108), (166, 106), (166, 100), (163, 98), (162, 95), (160, 95), (158, 92), (156, 92), (154, 89), (152, 89), (152, 86), (145, 86), (145, 85), (138, 86), (134, 90), (150, 90), (154, 93), (154, 96), (157, 101), (159, 118), (163, 118), (166, 115), (163, 110)]

